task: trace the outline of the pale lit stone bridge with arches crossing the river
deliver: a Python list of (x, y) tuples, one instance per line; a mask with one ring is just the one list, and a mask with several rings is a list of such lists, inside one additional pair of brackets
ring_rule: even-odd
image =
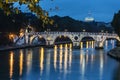
[[(120, 38), (117, 34), (112, 33), (90, 33), (90, 32), (30, 32), (24, 34), (24, 40), (16, 40), (18, 42), (23, 41), (22, 43), (32, 44), (35, 39), (43, 38), (45, 40), (45, 45), (54, 45), (55, 40), (60, 37), (68, 37), (73, 46), (80, 46), (80, 42), (84, 37), (91, 37), (95, 41), (95, 47), (102, 48), (106, 39), (114, 38), (120, 41)], [(16, 42), (16, 44), (18, 43)]]

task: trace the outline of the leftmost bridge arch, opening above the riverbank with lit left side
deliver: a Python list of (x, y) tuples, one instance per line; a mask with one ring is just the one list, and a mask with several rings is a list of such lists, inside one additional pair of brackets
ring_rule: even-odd
[(30, 37), (30, 44), (46, 44), (46, 39), (41, 35)]

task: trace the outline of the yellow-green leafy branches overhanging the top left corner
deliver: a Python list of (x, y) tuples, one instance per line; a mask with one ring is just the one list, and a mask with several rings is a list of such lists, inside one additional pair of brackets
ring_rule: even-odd
[[(48, 18), (48, 12), (41, 8), (40, 2), (41, 0), (0, 0), (0, 8), (6, 15), (10, 15), (12, 13), (21, 13), (20, 7), (26, 5), (29, 11), (37, 15), (44, 24), (53, 24), (53, 20)], [(18, 3), (18, 7), (14, 6), (16, 3)]]

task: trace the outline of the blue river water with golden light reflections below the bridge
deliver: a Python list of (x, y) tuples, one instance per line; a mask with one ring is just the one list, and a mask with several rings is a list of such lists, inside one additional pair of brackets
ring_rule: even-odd
[(0, 52), (0, 80), (114, 80), (119, 63), (103, 50), (73, 49), (71, 44), (54, 48), (35, 47)]

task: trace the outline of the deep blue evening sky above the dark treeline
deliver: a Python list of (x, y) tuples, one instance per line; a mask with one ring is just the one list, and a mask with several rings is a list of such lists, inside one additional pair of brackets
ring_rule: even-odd
[(70, 16), (82, 21), (90, 11), (95, 21), (110, 22), (120, 10), (120, 0), (43, 0), (41, 5), (48, 11), (51, 7), (59, 7), (58, 11), (50, 11), (50, 16)]

